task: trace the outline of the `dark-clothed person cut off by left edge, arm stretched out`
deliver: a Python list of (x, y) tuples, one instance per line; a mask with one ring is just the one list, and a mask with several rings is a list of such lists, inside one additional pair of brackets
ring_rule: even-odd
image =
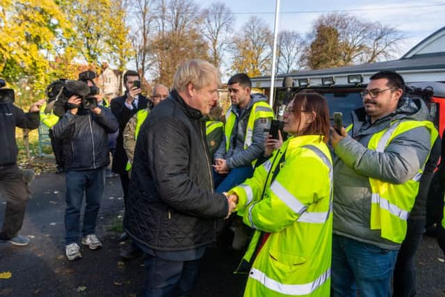
[[(5, 84), (1, 79), (0, 87)], [(14, 90), (0, 89), (0, 143), (3, 143), (3, 152), (0, 154), (0, 191), (6, 194), (6, 211), (0, 231), (0, 242), (26, 246), (29, 239), (18, 232), (23, 225), (30, 193), (28, 184), (17, 167), (15, 127), (37, 129), (40, 124), (40, 106), (45, 102), (42, 99), (32, 104), (29, 113), (24, 113), (13, 103)]]

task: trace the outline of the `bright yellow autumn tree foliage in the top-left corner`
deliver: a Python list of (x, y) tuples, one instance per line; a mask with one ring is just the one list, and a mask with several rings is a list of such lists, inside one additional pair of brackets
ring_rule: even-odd
[(53, 0), (3, 0), (0, 17), (1, 76), (13, 84), (25, 79), (34, 95), (42, 94), (65, 15)]

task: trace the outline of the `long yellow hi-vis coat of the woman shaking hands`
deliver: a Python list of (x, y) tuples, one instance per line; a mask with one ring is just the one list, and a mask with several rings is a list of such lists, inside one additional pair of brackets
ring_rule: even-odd
[(321, 136), (289, 138), (229, 193), (255, 229), (237, 271), (253, 262), (244, 296), (330, 296), (332, 160)]

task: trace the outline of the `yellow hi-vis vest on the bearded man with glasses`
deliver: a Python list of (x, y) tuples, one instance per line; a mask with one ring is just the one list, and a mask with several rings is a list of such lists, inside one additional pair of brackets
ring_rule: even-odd
[[(384, 152), (385, 147), (398, 135), (416, 127), (426, 127), (430, 131), (431, 147), (438, 132), (430, 121), (396, 120), (388, 129), (374, 134), (368, 148), (376, 152)], [(351, 126), (347, 128), (347, 131)], [(428, 158), (426, 158), (428, 159)], [(369, 178), (371, 185), (371, 230), (380, 230), (380, 236), (395, 243), (402, 243), (407, 230), (407, 218), (414, 206), (422, 168), (414, 177), (404, 184), (389, 184), (379, 179)]]

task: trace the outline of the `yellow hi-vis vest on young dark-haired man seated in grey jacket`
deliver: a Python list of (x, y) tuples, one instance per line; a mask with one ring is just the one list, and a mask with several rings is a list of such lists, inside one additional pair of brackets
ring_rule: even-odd
[[(255, 121), (258, 120), (259, 118), (268, 118), (270, 120), (275, 118), (275, 114), (273, 113), (272, 109), (270, 109), (269, 104), (267, 104), (264, 101), (254, 103), (252, 105), (252, 109), (250, 109), (248, 126), (245, 129), (245, 135), (244, 135), (244, 150), (247, 149), (252, 144), (254, 124)], [(234, 111), (232, 111), (232, 106), (230, 106), (229, 110), (227, 111), (225, 115), (225, 120), (226, 120), (224, 127), (225, 152), (229, 152), (230, 138), (233, 133), (234, 137), (236, 137), (236, 131), (233, 131), (236, 122), (236, 115)], [(252, 162), (252, 165), (254, 165), (255, 162), (256, 160)]]

